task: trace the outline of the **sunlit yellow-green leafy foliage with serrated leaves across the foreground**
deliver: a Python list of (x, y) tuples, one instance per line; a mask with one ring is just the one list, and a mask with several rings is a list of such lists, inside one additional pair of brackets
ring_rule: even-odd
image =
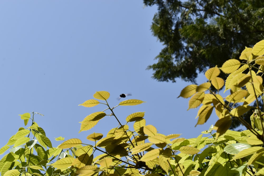
[[(196, 125), (204, 124), (213, 111), (219, 118), (197, 138), (159, 134), (156, 127), (146, 125), (144, 112), (128, 115), (126, 123), (121, 124), (115, 108), (144, 102), (130, 99), (112, 107), (107, 102), (110, 93), (99, 91), (94, 94), (95, 99), (80, 105), (100, 104), (106, 109), (85, 117), (79, 132), (91, 130), (105, 116), (115, 118), (118, 127), (106, 136), (90, 133), (85, 142), (58, 137), (56, 140), (63, 142), (53, 147), (35, 122), (36, 113), (20, 115), (26, 126), (29, 120), (32, 124), (26, 129), (21, 127), (0, 149), (0, 154), (10, 149), (0, 160), (1, 175), (263, 175), (264, 113), (258, 103), (264, 96), (263, 55), (264, 40), (253, 48), (246, 47), (240, 56), (244, 63), (227, 60), (220, 68), (215, 66), (205, 72), (208, 82), (188, 85), (181, 91), (179, 97), (190, 98), (188, 109), (200, 107)], [(225, 81), (219, 77), (221, 71), (229, 73)], [(212, 92), (211, 86), (217, 92)], [(225, 92), (230, 91), (226, 97), (218, 92), (223, 86)], [(256, 106), (251, 105), (254, 101)], [(251, 108), (255, 110), (252, 112)], [(242, 118), (245, 113), (252, 113), (250, 124)], [(234, 119), (247, 130), (228, 130)], [(100, 154), (95, 156), (97, 153)]]

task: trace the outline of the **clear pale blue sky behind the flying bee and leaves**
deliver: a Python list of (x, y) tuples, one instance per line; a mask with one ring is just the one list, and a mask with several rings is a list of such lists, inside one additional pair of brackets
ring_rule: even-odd
[[(85, 143), (93, 132), (105, 136), (118, 126), (114, 117), (78, 133), (87, 115), (106, 109), (78, 106), (96, 91), (110, 92), (111, 107), (121, 93), (146, 102), (115, 108), (122, 123), (140, 111), (147, 125), (164, 135), (192, 138), (208, 130), (217, 121), (215, 112), (207, 123), (194, 127), (198, 108), (187, 111), (189, 99), (177, 98), (191, 83), (157, 82), (152, 70), (146, 70), (163, 48), (150, 31), (156, 11), (144, 7), (142, 0), (0, 1), (0, 148), (24, 127), (18, 114), (32, 111), (45, 115), (35, 115), (35, 121), (55, 147), (61, 143), (54, 140), (59, 136)], [(205, 81), (204, 75), (197, 80)], [(133, 123), (128, 125), (133, 130)]]

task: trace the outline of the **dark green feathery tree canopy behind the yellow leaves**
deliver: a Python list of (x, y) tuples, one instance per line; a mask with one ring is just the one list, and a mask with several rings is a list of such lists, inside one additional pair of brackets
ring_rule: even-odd
[[(238, 59), (264, 38), (263, 0), (144, 0), (158, 6), (151, 30), (164, 48), (149, 65), (153, 78), (195, 83), (197, 73)], [(223, 75), (222, 75), (223, 77)]]

